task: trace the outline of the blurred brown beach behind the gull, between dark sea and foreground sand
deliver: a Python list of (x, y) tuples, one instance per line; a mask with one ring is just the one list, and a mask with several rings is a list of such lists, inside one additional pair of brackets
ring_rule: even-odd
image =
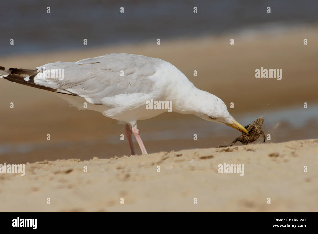
[[(174, 39), (163, 41), (160, 46), (148, 42), (89, 50), (83, 47), (77, 51), (1, 57), (0, 66), (35, 68), (52, 61), (77, 61), (107, 53), (160, 58), (178, 67), (197, 88), (220, 97), (244, 126), (264, 116), (263, 129), (271, 134), (271, 143), (276, 143), (317, 136), (318, 121), (312, 108), (318, 100), (315, 69), (318, 47), (312, 43), (304, 46), (303, 37), (317, 38), (318, 30), (303, 27), (279, 33), (241, 32)], [(232, 47), (230, 38), (235, 39)], [(255, 78), (255, 69), (260, 67), (281, 68), (282, 79)], [(193, 76), (194, 70), (197, 77)], [(0, 98), (0, 116), (5, 120), (0, 127), (2, 161), (88, 160), (129, 153), (127, 141), (120, 140), (124, 126), (118, 125), (118, 121), (98, 112), (79, 111), (52, 92), (0, 79)], [(11, 102), (14, 109), (10, 109)], [(229, 108), (231, 102), (233, 109)], [(303, 108), (304, 102), (308, 103), (308, 109)], [(294, 123), (288, 122), (286, 117), (292, 115), (283, 111), (289, 107), (300, 113), (302, 124), (298, 124), (298, 117), (290, 118)], [(307, 116), (309, 111), (312, 112)], [(280, 113), (281, 117), (274, 119)], [(150, 153), (216, 147), (239, 136), (239, 132), (227, 126), (174, 112), (140, 121), (138, 126)], [(46, 140), (47, 134), (51, 134), (50, 141)], [(197, 141), (193, 140), (194, 134), (198, 135)], [(139, 148), (135, 148), (140, 154)]]

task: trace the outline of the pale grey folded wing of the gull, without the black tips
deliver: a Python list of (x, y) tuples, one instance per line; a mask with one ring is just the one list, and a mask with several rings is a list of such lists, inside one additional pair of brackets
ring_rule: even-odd
[(34, 82), (66, 90), (89, 103), (105, 104), (115, 96), (148, 94), (155, 82), (151, 77), (162, 61), (142, 55), (115, 53), (78, 62), (55, 62), (37, 68), (62, 69), (63, 80), (37, 76)]

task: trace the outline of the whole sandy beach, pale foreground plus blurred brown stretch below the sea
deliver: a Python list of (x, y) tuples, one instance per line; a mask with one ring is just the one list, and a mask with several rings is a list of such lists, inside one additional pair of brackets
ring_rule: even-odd
[[(26, 163), (25, 176), (0, 174), (0, 211), (317, 212), (317, 37), (316, 28), (303, 27), (2, 56), (0, 66), (19, 68), (107, 53), (160, 58), (228, 109), (234, 102), (229, 111), (239, 123), (264, 116), (262, 129), (271, 140), (215, 148), (240, 133), (172, 112), (138, 123), (150, 154), (140, 155), (133, 139), (139, 155), (129, 157), (127, 139), (120, 140), (124, 126), (116, 120), (0, 79), (0, 164)], [(255, 78), (260, 67), (281, 68), (282, 79)], [(219, 174), (223, 163), (244, 164), (244, 176)]]

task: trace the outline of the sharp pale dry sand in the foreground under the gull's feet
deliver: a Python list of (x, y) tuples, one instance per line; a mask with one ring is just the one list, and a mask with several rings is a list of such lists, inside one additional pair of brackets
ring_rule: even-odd
[[(25, 176), (0, 176), (0, 211), (316, 212), (317, 152), (312, 139), (27, 163)], [(224, 162), (244, 164), (245, 175), (219, 174)]]

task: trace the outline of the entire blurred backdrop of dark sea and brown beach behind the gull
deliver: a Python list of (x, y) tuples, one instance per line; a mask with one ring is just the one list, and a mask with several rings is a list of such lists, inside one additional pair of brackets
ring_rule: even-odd
[[(34, 69), (107, 53), (160, 58), (197, 88), (220, 97), (244, 126), (263, 116), (263, 131), (271, 135), (267, 142), (317, 138), (316, 0), (31, 0), (3, 2), (2, 9), (0, 66)], [(255, 78), (260, 67), (282, 69), (281, 81)], [(0, 116), (0, 164), (130, 153), (127, 139), (120, 140), (124, 126), (116, 120), (79, 111), (54, 93), (4, 79)], [(240, 135), (225, 125), (173, 112), (139, 121), (138, 127), (148, 153), (216, 147)], [(141, 153), (133, 141), (136, 153)]]

